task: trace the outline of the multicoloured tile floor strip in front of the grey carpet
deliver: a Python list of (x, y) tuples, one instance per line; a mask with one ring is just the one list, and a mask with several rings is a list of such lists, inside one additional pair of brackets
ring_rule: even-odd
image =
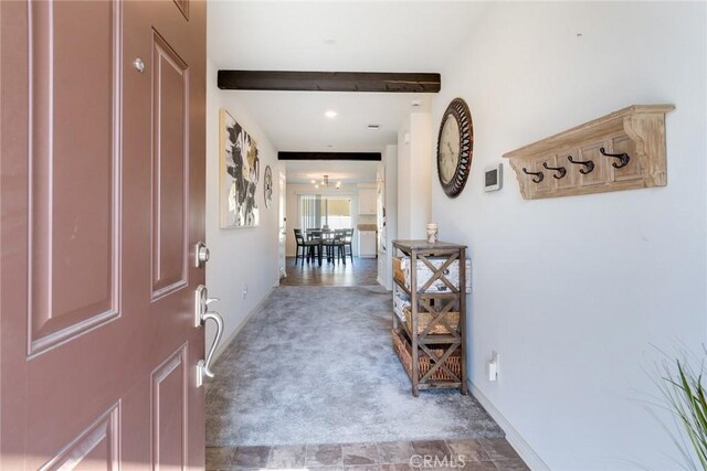
[(528, 470), (504, 438), (207, 448), (207, 470)]

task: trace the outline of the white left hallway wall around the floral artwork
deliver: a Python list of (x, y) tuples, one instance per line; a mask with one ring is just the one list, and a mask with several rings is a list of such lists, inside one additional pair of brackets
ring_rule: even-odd
[[(231, 116), (257, 142), (261, 175), (257, 183), (257, 205), (261, 211), (260, 226), (221, 229), (219, 227), (219, 109), (225, 108)], [(273, 170), (273, 203), (265, 207), (263, 176), (265, 165)], [(207, 264), (209, 295), (221, 298), (211, 307), (225, 321), (222, 346), (228, 343), (241, 323), (253, 311), (273, 286), (279, 281), (277, 260), (277, 202), (279, 167), (277, 152), (247, 110), (239, 104), (232, 93), (217, 87), (217, 69), (207, 62), (207, 245), (211, 260)], [(241, 291), (247, 285), (247, 296)], [(211, 323), (207, 329), (207, 349), (214, 335)]]

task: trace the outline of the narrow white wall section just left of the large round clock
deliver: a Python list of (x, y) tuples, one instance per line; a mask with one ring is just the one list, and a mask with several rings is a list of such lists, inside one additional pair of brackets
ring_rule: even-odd
[(432, 126), (429, 113), (411, 113), (398, 132), (398, 238), (426, 237), (431, 222)]

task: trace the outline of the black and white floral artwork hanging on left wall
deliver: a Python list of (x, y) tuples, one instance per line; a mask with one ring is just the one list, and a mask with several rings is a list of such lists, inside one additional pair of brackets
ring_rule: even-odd
[(257, 144), (225, 109), (219, 113), (219, 149), (221, 228), (255, 227), (260, 222)]

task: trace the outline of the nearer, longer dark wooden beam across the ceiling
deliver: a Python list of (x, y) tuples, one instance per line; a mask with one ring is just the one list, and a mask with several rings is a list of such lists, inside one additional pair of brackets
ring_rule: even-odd
[(437, 93), (440, 74), (397, 72), (219, 71), (225, 90)]

